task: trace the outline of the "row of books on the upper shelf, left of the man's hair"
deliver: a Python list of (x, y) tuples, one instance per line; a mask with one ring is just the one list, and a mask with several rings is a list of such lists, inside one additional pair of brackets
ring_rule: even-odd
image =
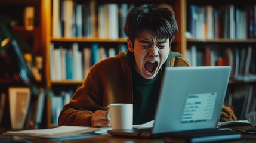
[(125, 38), (124, 24), (134, 4), (53, 1), (53, 37)]

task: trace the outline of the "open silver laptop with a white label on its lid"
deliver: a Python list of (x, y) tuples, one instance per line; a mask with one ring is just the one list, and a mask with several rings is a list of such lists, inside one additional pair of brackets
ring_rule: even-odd
[(110, 135), (153, 137), (215, 129), (230, 66), (166, 67), (152, 128), (109, 130)]

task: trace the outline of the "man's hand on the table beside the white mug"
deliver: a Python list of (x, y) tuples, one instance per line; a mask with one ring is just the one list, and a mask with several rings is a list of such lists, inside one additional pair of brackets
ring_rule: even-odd
[(91, 117), (91, 126), (94, 127), (109, 127), (110, 124), (107, 122), (106, 113), (109, 106), (104, 107), (106, 110), (97, 110)]

